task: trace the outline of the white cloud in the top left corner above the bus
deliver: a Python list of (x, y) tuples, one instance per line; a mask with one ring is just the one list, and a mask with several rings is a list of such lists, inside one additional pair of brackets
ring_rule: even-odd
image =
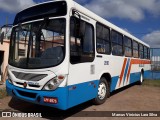
[(31, 5), (34, 5), (33, 0), (1, 0), (0, 10), (7, 12), (19, 12)]

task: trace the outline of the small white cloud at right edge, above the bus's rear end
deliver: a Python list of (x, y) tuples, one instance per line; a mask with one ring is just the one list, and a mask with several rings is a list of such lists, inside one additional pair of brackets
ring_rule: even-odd
[(142, 40), (148, 43), (152, 48), (160, 48), (160, 30), (153, 31), (143, 36)]

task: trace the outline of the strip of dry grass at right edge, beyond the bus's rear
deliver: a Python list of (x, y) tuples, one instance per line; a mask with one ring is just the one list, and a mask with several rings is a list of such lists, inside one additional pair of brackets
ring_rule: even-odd
[(160, 87), (160, 80), (144, 80), (143, 85)]

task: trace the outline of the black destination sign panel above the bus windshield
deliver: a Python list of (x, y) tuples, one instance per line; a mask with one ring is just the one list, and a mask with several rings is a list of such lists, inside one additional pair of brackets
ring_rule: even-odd
[(39, 4), (19, 12), (15, 17), (13, 25), (36, 19), (65, 16), (66, 14), (66, 1), (56, 1)]

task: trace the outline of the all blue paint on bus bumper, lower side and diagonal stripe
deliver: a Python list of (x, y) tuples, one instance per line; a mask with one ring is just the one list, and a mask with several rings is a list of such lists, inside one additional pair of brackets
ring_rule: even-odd
[[(125, 73), (128, 71), (130, 60), (128, 60)], [(149, 73), (149, 71), (145, 71), (144, 75)], [(114, 91), (116, 89), (116, 84), (118, 82), (119, 76), (112, 77), (111, 81), (111, 89), (110, 91)], [(130, 75), (130, 83), (136, 82), (140, 80), (140, 72), (132, 73)], [(98, 84), (99, 80), (93, 80), (91, 82), (85, 82), (80, 84), (75, 84), (72, 86), (66, 86), (63, 88), (58, 88), (55, 91), (43, 91), (43, 90), (29, 90), (20, 87), (16, 87), (6, 81), (6, 89), (8, 95), (17, 97), (19, 99), (32, 102), (35, 104), (41, 104), (45, 106), (55, 107), (62, 110), (66, 110), (88, 100), (95, 98), (98, 94)], [(28, 97), (26, 95), (19, 94), (18, 91), (23, 91), (26, 93), (35, 94), (35, 97)], [(14, 94), (13, 94), (14, 92)], [(49, 104), (43, 102), (43, 97), (56, 97), (58, 98), (58, 104)], [(40, 97), (40, 101), (37, 101), (37, 98)]]

